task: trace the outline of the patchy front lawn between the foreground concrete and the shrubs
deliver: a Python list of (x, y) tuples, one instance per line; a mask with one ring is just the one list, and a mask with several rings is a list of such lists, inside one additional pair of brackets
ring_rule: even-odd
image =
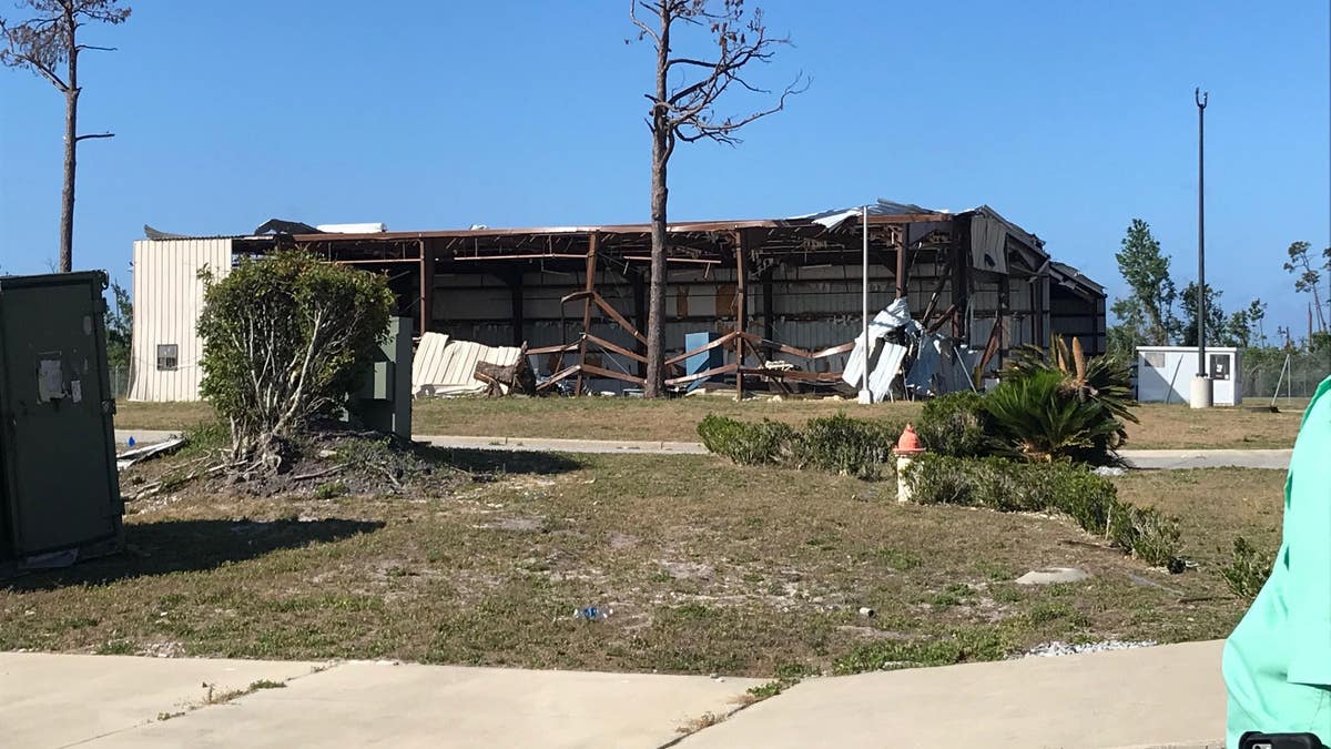
[[(447, 498), (130, 502), (130, 554), (0, 588), (0, 649), (771, 677), (1222, 637), (1244, 604), (1218, 566), (1233, 533), (1274, 545), (1283, 482), (1121, 478), (1185, 516), (1199, 566), (1170, 576), (1063, 518), (898, 505), (886, 482), (705, 456), (454, 458), (471, 480)], [(1013, 582), (1047, 565), (1095, 577)], [(614, 613), (575, 621), (586, 605)]]

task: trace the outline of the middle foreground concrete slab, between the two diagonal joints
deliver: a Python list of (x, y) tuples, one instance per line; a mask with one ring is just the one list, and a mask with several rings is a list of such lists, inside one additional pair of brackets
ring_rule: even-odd
[(660, 746), (756, 684), (349, 662), (89, 746)]

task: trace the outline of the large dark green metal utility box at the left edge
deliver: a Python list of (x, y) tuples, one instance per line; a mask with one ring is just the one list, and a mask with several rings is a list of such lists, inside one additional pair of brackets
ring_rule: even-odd
[(102, 272), (0, 277), (0, 576), (124, 536)]

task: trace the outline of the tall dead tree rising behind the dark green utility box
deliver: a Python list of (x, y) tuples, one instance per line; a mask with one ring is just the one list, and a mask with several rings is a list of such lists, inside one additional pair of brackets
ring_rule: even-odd
[[(20, 7), (33, 16), (23, 21), (0, 19), (0, 63), (11, 68), (28, 68), (51, 81), (65, 95), (65, 176), (60, 200), (60, 272), (73, 268), (75, 239), (75, 167), (80, 140), (113, 137), (114, 133), (77, 135), (79, 128), (79, 55), (85, 49), (110, 52), (113, 47), (79, 43), (79, 29), (88, 21), (121, 24), (130, 8), (118, 0), (23, 0)], [(60, 65), (65, 67), (60, 75)]]

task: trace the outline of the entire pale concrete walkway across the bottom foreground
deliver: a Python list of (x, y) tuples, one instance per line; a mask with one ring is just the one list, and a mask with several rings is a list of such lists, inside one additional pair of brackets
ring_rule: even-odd
[[(1219, 746), (1221, 644), (812, 678), (709, 746)], [(208, 704), (260, 680), (286, 684)], [(7, 746), (642, 746), (757, 680), (0, 653)]]

